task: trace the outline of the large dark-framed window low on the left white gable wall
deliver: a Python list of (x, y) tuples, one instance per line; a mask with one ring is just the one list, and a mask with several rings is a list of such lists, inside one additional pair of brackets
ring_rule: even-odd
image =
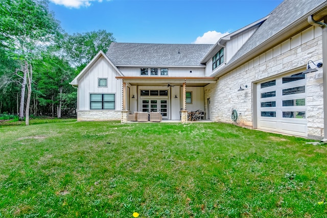
[(114, 110), (115, 94), (90, 94), (91, 110)]

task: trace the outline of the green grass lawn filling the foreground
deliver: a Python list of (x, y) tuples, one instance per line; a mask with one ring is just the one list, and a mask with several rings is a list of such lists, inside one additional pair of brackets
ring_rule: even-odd
[(0, 217), (327, 217), (325, 144), (219, 123), (56, 122), (0, 128)]

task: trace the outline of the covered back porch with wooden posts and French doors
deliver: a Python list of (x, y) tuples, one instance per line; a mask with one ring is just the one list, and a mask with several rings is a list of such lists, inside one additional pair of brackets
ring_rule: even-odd
[(205, 112), (204, 86), (212, 77), (116, 77), (123, 83), (122, 123), (134, 112), (159, 112), (162, 120), (187, 123), (188, 112)]

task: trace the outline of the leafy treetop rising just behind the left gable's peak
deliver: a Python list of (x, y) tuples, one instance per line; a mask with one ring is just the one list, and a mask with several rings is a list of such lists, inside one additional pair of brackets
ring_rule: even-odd
[(106, 53), (113, 41), (115, 41), (115, 38), (112, 37), (112, 33), (108, 33), (105, 30), (82, 34), (74, 33), (73, 35), (66, 34), (63, 49), (67, 54), (69, 62), (77, 67), (77, 71), (80, 71), (100, 50)]

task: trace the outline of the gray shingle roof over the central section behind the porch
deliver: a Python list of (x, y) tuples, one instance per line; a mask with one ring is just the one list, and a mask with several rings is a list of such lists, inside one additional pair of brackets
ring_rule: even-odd
[(212, 47), (212, 44), (112, 42), (106, 55), (116, 66), (204, 66), (201, 60)]

